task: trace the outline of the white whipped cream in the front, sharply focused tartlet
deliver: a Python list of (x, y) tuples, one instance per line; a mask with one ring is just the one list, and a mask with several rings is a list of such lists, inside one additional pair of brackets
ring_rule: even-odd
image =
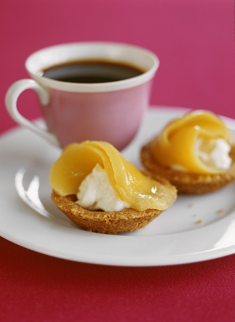
[(130, 208), (109, 184), (105, 170), (97, 163), (79, 186), (76, 203), (88, 210), (120, 211)]

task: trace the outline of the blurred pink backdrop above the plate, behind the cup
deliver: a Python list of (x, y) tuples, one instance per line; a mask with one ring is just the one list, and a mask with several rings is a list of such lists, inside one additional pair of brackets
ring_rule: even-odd
[[(118, 41), (159, 56), (152, 104), (211, 109), (235, 118), (232, 0), (2, 0), (0, 30), (1, 102), (11, 83), (28, 77), (24, 61), (35, 50)], [(26, 91), (19, 99), (28, 118), (39, 115), (34, 95)], [(0, 128), (13, 126), (1, 113)]]

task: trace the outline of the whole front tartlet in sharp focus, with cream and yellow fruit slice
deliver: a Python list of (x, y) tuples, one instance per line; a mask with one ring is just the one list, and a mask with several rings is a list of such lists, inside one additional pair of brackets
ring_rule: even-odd
[(177, 197), (167, 179), (146, 174), (107, 142), (73, 143), (51, 168), (52, 200), (89, 231), (115, 234), (136, 230)]

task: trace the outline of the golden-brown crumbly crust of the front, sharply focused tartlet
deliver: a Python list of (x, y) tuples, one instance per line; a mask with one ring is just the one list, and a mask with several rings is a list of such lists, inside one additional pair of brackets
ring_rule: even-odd
[[(147, 174), (147, 172), (145, 173)], [(170, 185), (169, 181), (165, 178), (159, 176), (157, 176), (157, 178), (161, 183)], [(171, 187), (175, 192), (176, 199), (176, 188), (172, 185)], [(116, 234), (118, 232), (129, 232), (144, 228), (149, 222), (163, 212), (163, 210), (158, 209), (138, 211), (133, 208), (126, 208), (115, 212), (90, 211), (75, 203), (75, 195), (62, 197), (54, 190), (51, 198), (56, 206), (78, 226), (91, 232), (101, 232), (105, 234)]]

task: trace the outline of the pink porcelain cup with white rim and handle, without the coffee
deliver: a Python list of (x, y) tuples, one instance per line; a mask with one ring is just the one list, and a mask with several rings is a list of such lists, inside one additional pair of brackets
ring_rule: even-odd
[[(45, 68), (80, 59), (124, 62), (145, 72), (122, 81), (92, 84), (39, 76)], [(108, 141), (121, 150), (141, 124), (159, 59), (153, 52), (122, 43), (66, 43), (34, 52), (25, 67), (32, 79), (16, 81), (5, 98), (6, 108), (17, 123), (60, 147), (88, 139)], [(36, 91), (47, 130), (18, 112), (17, 99), (26, 89)]]

